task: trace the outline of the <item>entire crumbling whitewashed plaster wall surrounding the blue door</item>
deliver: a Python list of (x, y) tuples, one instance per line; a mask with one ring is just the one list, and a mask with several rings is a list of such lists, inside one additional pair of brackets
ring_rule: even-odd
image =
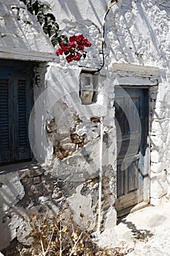
[[(105, 66), (97, 78), (94, 78), (98, 80), (98, 101), (93, 105), (82, 105), (80, 101), (80, 72), (82, 67), (98, 69), (103, 64), (101, 42), (108, 2), (47, 2), (51, 4), (65, 34), (82, 33), (93, 45), (87, 50), (87, 58), (79, 63), (74, 61), (67, 64), (64, 57), (60, 56), (55, 63), (41, 64), (36, 69), (30, 139), (35, 158), (41, 163), (46, 162), (46, 171), (40, 168), (36, 173), (32, 168), (1, 176), (1, 228), (4, 233), (9, 234), (6, 238), (4, 236), (5, 246), (15, 236), (19, 241), (24, 240), (26, 233), (23, 231), (23, 218), (20, 217), (20, 212), (23, 215), (24, 209), (28, 212), (41, 211), (47, 205), (53, 212), (57, 212), (58, 208), (69, 204), (72, 211), (75, 208), (77, 210), (74, 213), (77, 222), (82, 221), (80, 214), (83, 209), (84, 223), (90, 220), (88, 227), (94, 228), (98, 203), (100, 116), (104, 116), (105, 131), (103, 227), (115, 225), (116, 144), (112, 108), (115, 85), (129, 83), (142, 86), (143, 83), (150, 86), (151, 203), (160, 203), (165, 198), (163, 195), (170, 195), (169, 1), (120, 0), (109, 11), (104, 34)], [(14, 1), (9, 0), (1, 1), (4, 11), (7, 10), (7, 13), (3, 11), (1, 17), (15, 17), (10, 7), (13, 3)], [(4, 18), (1, 18), (1, 23)], [(10, 33), (14, 29), (18, 31), (18, 26), (14, 28), (11, 20), (9, 21)], [(27, 31), (30, 33), (30, 28), (33, 29), (23, 21), (20, 26), (26, 34)], [(33, 31), (36, 33), (37, 23), (34, 26)], [(1, 27), (4, 28), (4, 25)], [(39, 37), (39, 34), (36, 36)], [(19, 38), (22, 39), (22, 36)], [(34, 50), (47, 50), (44, 37), (28, 38)], [(34, 43), (39, 40), (43, 47), (36, 48)], [(24, 39), (22, 42), (25, 42)], [(15, 41), (14, 44), (16, 43)], [(1, 48), (6, 49), (3, 44), (4, 41), (1, 41)], [(25, 49), (27, 47), (29, 48), (28, 42)], [(50, 48), (49, 51), (51, 52)], [(134, 65), (129, 68), (128, 64)], [(9, 182), (11, 178), (15, 181), (13, 185)], [(6, 199), (4, 191), (7, 191)], [(9, 215), (10, 211), (12, 215)]]

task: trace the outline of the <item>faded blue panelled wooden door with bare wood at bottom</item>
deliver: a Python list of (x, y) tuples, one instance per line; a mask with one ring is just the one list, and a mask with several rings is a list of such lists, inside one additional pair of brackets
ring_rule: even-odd
[[(147, 89), (115, 89), (117, 201), (121, 214), (143, 201), (144, 151), (148, 129)], [(127, 211), (125, 211), (125, 209)]]

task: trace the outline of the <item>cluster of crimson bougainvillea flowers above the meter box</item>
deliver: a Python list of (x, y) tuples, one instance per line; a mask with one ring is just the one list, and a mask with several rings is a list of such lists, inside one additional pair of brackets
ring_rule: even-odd
[(80, 61), (81, 57), (85, 59), (85, 47), (90, 47), (91, 43), (82, 34), (69, 37), (68, 42), (59, 42), (60, 48), (56, 50), (57, 56), (66, 55), (66, 61)]

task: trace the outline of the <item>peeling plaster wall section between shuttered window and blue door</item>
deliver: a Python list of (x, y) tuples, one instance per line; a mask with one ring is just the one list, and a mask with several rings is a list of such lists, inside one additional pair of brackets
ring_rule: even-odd
[[(44, 90), (43, 85), (36, 89), (41, 94), (36, 98), (32, 110), (31, 120), (34, 120), (36, 113), (38, 115), (35, 123), (30, 123), (33, 124), (30, 125), (30, 135), (33, 135), (31, 146), (34, 156), (38, 162), (45, 162), (44, 166), (50, 169), (52, 176), (60, 180), (73, 211), (77, 209), (74, 208), (75, 198), (81, 209), (86, 208), (88, 200), (94, 226), (98, 204), (101, 116), (104, 116), (103, 218), (108, 210), (113, 212), (115, 203), (116, 143), (112, 140), (115, 138), (115, 113), (112, 108), (114, 94), (108, 79), (94, 75), (94, 83), (97, 81), (98, 85), (98, 100), (92, 105), (82, 105), (80, 71), (81, 68), (67, 69), (58, 64), (47, 67)], [(88, 208), (83, 214), (88, 217)], [(75, 216), (79, 217), (79, 211), (75, 211)], [(115, 225), (116, 214), (112, 215), (112, 221)]]

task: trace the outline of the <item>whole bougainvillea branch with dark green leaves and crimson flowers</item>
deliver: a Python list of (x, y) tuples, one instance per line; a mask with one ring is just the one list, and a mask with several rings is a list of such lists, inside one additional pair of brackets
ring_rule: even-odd
[(66, 61), (80, 61), (81, 57), (85, 59), (85, 47), (90, 47), (91, 43), (82, 34), (73, 37), (66, 37), (61, 34), (58, 23), (53, 13), (47, 12), (50, 10), (50, 5), (42, 3), (39, 0), (20, 0), (26, 4), (26, 7), (31, 14), (36, 15), (37, 20), (42, 26), (43, 31), (50, 37), (53, 46), (60, 45), (56, 54), (66, 55)]

